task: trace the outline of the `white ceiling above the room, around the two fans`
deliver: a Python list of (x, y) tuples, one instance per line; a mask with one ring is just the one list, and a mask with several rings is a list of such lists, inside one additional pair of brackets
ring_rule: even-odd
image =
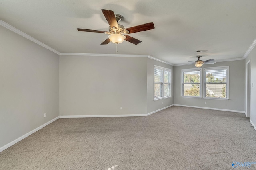
[[(155, 29), (129, 34), (128, 41), (100, 45), (108, 35), (101, 9), (124, 17), (132, 27), (153, 22)], [(244, 56), (256, 38), (256, 0), (0, 0), (0, 20), (60, 53), (133, 54), (178, 64), (234, 60)], [(196, 53), (197, 50), (208, 50)]]

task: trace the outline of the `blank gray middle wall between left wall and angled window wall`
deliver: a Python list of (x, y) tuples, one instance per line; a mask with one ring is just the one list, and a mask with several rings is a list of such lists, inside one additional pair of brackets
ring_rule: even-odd
[(61, 55), (60, 116), (146, 114), (146, 60)]

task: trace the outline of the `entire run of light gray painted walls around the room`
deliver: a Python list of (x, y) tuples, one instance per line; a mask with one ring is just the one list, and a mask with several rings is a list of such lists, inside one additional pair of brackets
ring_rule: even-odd
[[(59, 56), (2, 26), (0, 36), (0, 147), (59, 115), (146, 114), (172, 104), (244, 111), (248, 60), (254, 83), (250, 119), (256, 125), (256, 48), (246, 60), (202, 66), (229, 66), (230, 99), (210, 100), (181, 97), (181, 70), (194, 65), (173, 67), (146, 57)], [(154, 65), (172, 69), (171, 98), (154, 101)]]

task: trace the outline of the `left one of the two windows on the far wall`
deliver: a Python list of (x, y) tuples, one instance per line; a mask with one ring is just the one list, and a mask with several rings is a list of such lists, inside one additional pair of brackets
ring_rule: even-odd
[(182, 96), (201, 98), (202, 68), (182, 70)]

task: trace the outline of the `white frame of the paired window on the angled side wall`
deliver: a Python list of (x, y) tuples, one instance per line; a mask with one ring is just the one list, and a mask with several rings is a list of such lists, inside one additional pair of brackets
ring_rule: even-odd
[[(158, 69), (162, 70), (162, 82), (155, 82), (155, 68), (158, 68)], [(170, 83), (164, 83), (164, 71), (170, 72)], [(153, 88), (154, 101), (172, 97), (172, 69), (154, 65), (153, 81), (154, 81), (154, 88)], [(160, 98), (155, 98), (155, 84), (162, 84), (162, 96)], [(170, 91), (170, 96), (164, 96), (164, 84), (170, 84), (170, 90), (171, 90)]]

